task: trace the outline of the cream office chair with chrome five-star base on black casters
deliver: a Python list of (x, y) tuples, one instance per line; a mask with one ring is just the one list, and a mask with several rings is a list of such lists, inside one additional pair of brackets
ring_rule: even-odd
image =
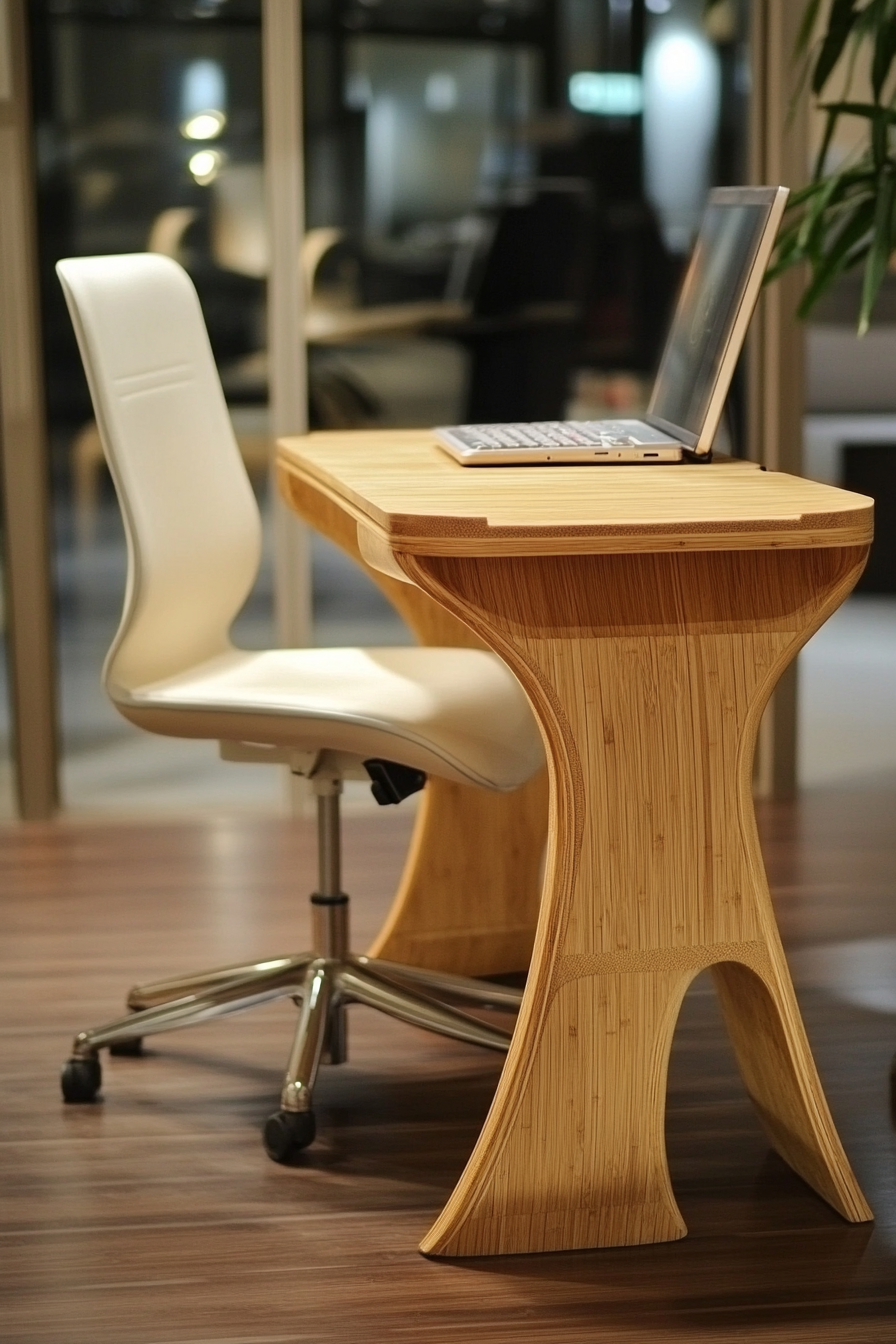
[(485, 650), (236, 649), (228, 630), (255, 577), (261, 521), (192, 282), (149, 254), (56, 269), (128, 539), (106, 691), (141, 728), (218, 739), (226, 759), (286, 763), (310, 780), (320, 874), (309, 952), (136, 986), (128, 1016), (75, 1038), (63, 1095), (95, 1098), (102, 1047), (140, 1054), (144, 1036), (287, 996), (301, 1012), (279, 1110), (265, 1126), (269, 1154), (285, 1161), (314, 1137), (314, 1079), (324, 1055), (345, 1059), (348, 1004), (506, 1050), (506, 1031), (458, 1004), (512, 1011), (520, 1001), (501, 985), (349, 950), (343, 780), (368, 780), (382, 804), (420, 789), (429, 773), (509, 790), (543, 763), (539, 732), (519, 683)]

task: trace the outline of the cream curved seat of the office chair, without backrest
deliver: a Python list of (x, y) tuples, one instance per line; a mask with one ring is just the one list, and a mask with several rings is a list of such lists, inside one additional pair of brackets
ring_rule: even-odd
[(172, 738), (227, 738), (403, 765), (484, 789), (513, 789), (540, 765), (529, 710), (477, 649), (232, 649), (132, 689), (125, 718)]

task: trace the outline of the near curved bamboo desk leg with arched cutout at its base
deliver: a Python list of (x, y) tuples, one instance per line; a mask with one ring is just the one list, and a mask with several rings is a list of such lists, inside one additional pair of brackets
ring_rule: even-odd
[(665, 1085), (692, 977), (717, 966), (772, 1144), (844, 1218), (870, 1211), (806, 1043), (751, 796), (762, 710), (864, 548), (399, 558), (514, 668), (548, 745), (545, 888), (482, 1134), (422, 1250), (669, 1241)]

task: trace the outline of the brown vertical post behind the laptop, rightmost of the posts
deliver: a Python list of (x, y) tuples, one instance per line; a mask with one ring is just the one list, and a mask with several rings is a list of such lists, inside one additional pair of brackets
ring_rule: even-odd
[[(750, 175), (755, 183), (799, 187), (807, 173), (807, 109), (794, 102), (797, 32), (805, 4), (754, 0)], [(803, 277), (789, 271), (767, 289), (756, 310), (748, 356), (748, 454), (772, 472), (802, 469), (805, 335), (795, 316)], [(782, 676), (759, 730), (756, 793), (797, 792), (797, 663)]]

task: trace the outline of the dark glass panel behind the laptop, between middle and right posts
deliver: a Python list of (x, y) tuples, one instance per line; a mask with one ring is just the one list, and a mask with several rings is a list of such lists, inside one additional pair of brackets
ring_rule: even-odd
[(313, 345), (313, 422), (639, 409), (707, 190), (746, 180), (747, 5), (707, 20), (703, 0), (308, 0), (304, 15), (308, 223), (330, 230), (320, 297), (433, 305), (402, 340)]

